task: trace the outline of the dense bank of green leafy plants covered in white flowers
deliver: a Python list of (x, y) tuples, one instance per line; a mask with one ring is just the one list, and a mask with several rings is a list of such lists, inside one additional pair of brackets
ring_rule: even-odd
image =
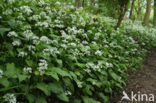
[(0, 0), (0, 102), (100, 103), (156, 46), (155, 29), (49, 0)]

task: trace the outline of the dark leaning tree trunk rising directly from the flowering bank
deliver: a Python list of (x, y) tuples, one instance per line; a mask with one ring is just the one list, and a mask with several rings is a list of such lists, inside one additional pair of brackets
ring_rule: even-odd
[(126, 11), (128, 10), (128, 3), (129, 3), (129, 0), (124, 0), (124, 1), (121, 0), (120, 1), (120, 12), (121, 12), (121, 14), (120, 14), (120, 16), (118, 18), (118, 23), (117, 23), (115, 29), (120, 27), (120, 25), (121, 25), (121, 23), (122, 23), (122, 21), (124, 19), (124, 16), (126, 14)]

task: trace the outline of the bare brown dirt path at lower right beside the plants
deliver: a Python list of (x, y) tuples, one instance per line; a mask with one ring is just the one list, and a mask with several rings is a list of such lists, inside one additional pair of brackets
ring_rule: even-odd
[[(140, 70), (134, 74), (130, 74), (124, 91), (131, 101), (122, 100), (123, 93), (121, 93), (116, 95), (111, 103), (156, 103), (156, 49), (148, 53)], [(131, 97), (132, 95), (134, 97), (135, 94), (137, 101), (134, 99), (132, 101)], [(144, 95), (142, 98), (143, 94), (146, 94), (146, 96)], [(152, 95), (155, 96), (154, 102), (149, 101), (149, 99), (153, 100)], [(141, 99), (144, 100), (142, 101)]]

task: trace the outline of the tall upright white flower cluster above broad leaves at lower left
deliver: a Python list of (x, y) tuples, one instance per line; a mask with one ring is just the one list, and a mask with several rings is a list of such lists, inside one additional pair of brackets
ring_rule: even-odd
[(40, 59), (37, 67), (38, 71), (40, 72), (41, 75), (45, 73), (45, 70), (48, 69), (48, 63), (44, 59)]

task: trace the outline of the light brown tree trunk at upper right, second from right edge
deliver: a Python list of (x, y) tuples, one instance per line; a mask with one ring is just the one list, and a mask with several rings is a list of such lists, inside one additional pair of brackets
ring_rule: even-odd
[(146, 7), (146, 14), (144, 17), (144, 21), (142, 22), (143, 25), (147, 25), (151, 13), (151, 0), (147, 0), (147, 7)]

